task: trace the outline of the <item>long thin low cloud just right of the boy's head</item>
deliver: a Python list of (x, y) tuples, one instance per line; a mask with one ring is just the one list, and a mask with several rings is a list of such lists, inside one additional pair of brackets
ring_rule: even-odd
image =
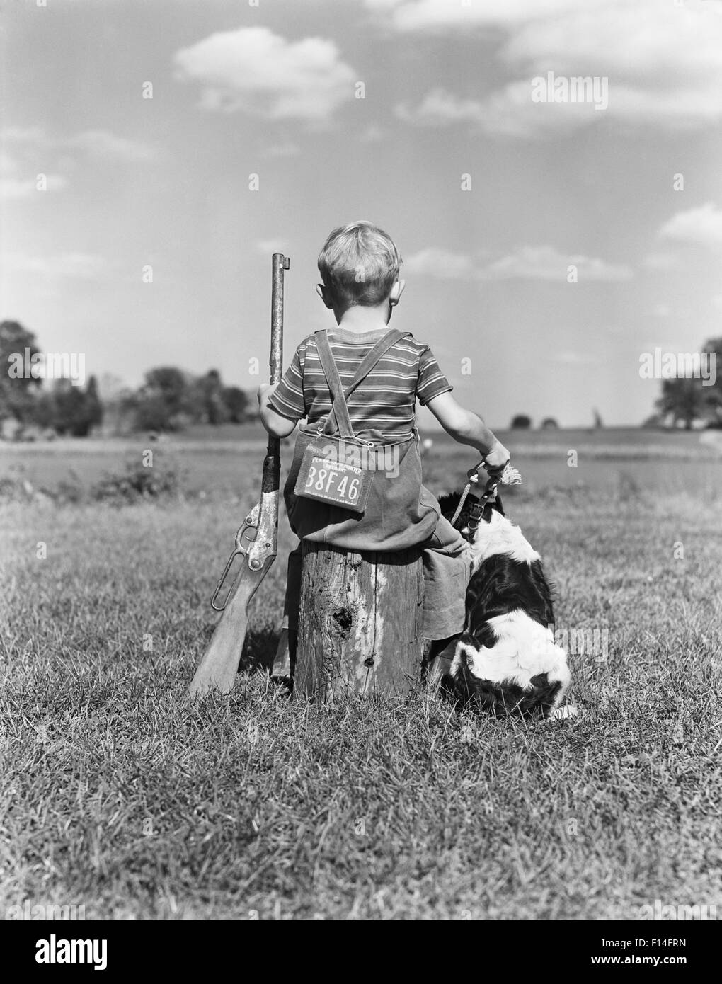
[(629, 280), (632, 270), (624, 264), (580, 254), (565, 255), (554, 246), (520, 246), (496, 260), (427, 247), (404, 261), (404, 271), (442, 280), (559, 280), (567, 282), (568, 268), (575, 266), (579, 282)]

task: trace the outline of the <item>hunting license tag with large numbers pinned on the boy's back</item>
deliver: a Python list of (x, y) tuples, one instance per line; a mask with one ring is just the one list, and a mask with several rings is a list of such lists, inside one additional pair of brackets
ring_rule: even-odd
[(339, 460), (333, 442), (325, 439), (323, 443), (323, 448), (311, 444), (303, 453), (294, 494), (352, 513), (365, 512), (373, 471)]

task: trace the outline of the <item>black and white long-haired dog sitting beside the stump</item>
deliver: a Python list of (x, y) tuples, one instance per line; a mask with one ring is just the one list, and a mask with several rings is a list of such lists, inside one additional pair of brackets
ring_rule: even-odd
[[(457, 493), (440, 499), (447, 519), (458, 502)], [(567, 653), (554, 642), (552, 595), (539, 554), (504, 515), (498, 496), (486, 503), (469, 496), (456, 525), (470, 543), (472, 565), (463, 632), (440, 656), (447, 684), (451, 677), (460, 703), (499, 715), (564, 715), (571, 676)]]

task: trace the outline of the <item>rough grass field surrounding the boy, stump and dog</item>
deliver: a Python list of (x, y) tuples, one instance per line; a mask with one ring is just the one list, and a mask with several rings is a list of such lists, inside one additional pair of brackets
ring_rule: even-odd
[[(722, 462), (696, 435), (649, 461), (553, 437), (561, 458), (516, 457), (528, 481), (508, 512), (547, 559), (558, 627), (609, 645), (572, 653), (581, 715), (552, 723), (459, 714), (423, 690), (328, 708), (275, 694), (284, 518), (236, 690), (193, 706), (258, 442), (176, 448), (183, 494), (124, 507), (34, 489), (67, 455), (90, 482), (133, 445), (100, 462), (58, 448), (52, 467), (5, 455), (0, 477), (32, 488), (0, 507), (0, 913), (25, 899), (88, 918), (634, 919), (655, 899), (722, 912)], [(437, 444), (427, 483), (449, 488), (472, 463)]]

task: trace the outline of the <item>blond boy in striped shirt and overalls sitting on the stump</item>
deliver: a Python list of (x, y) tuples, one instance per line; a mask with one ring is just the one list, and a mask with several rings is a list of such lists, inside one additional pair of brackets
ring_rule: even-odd
[[(470, 561), (468, 544), (441, 516), (436, 498), (421, 484), (415, 400), (429, 407), (454, 440), (476, 448), (487, 470), (501, 472), (509, 453), (481, 417), (451, 397), (451, 385), (427, 344), (410, 333), (389, 335), (385, 342), (394, 339), (391, 347), (360, 382), (356, 380), (356, 388), (345, 400), (353, 439), (367, 449), (383, 448), (383, 460), (393, 462), (388, 477), (375, 472), (363, 516), (293, 492), (304, 448), (318, 439), (323, 428), (331, 434), (338, 425), (338, 413), (331, 413), (338, 403), (331, 400), (323, 363), (329, 368), (332, 356), (346, 391), (364, 356), (372, 349), (378, 355), (384, 344), (380, 339), (388, 336), (391, 314), (405, 285), (399, 279), (400, 266), (391, 237), (371, 222), (333, 229), (319, 256), (324, 282), (317, 291), (333, 312), (337, 328), (304, 338), (281, 382), (262, 385), (258, 400), (264, 426), (276, 437), (287, 437), (302, 417), (307, 418), (283, 492), (289, 523), (299, 538), (356, 550), (396, 551), (423, 544), (423, 634), (434, 641), (431, 655), (435, 655), (463, 629)], [(299, 542), (288, 558), (283, 632), (273, 676), (290, 676), (300, 581)]]

